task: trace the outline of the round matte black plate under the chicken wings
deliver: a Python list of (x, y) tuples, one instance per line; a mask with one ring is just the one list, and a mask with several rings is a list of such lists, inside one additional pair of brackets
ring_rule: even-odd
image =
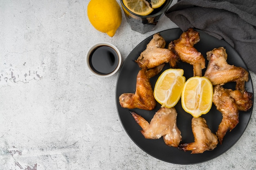
[[(231, 65), (236, 65), (247, 69), (243, 59), (239, 56), (239, 54), (232, 48), (227, 42), (223, 40), (216, 39), (200, 30), (197, 30), (200, 33), (200, 42), (195, 44), (195, 48), (203, 54), (206, 59), (206, 52), (213, 50), (213, 48), (224, 47), (227, 51), (228, 58), (227, 62)], [(180, 37), (182, 31), (180, 28), (169, 29), (166, 31), (160, 32), (160, 35), (164, 37), (166, 41), (166, 48), (168, 44)], [(208, 161), (215, 157), (218, 157), (222, 153), (225, 153), (229, 148), (231, 148), (238, 139), (242, 136), (243, 132), (245, 131), (247, 124), (249, 123), (250, 117), (252, 115), (252, 108), (247, 111), (243, 112), (240, 111), (239, 114), (239, 123), (238, 125), (231, 131), (227, 132), (225, 135), (222, 145), (218, 144), (218, 146), (211, 151), (205, 151), (202, 154), (191, 154), (190, 151), (184, 152), (179, 150), (178, 148), (174, 148), (171, 146), (166, 146), (164, 143), (163, 138), (160, 139), (145, 139), (144, 136), (141, 134), (139, 130), (141, 127), (135, 122), (134, 118), (129, 112), (129, 109), (122, 108), (119, 104), (119, 96), (123, 93), (135, 93), (136, 88), (136, 77), (140, 70), (135, 60), (139, 57), (140, 53), (146, 49), (146, 45), (148, 42), (153, 38), (153, 35), (146, 38), (142, 41), (139, 45), (137, 45), (132, 52), (126, 58), (123, 66), (121, 67), (118, 80), (117, 80), (117, 87), (116, 87), (116, 104), (117, 110), (119, 114), (119, 118), (121, 123), (126, 130), (126, 133), (130, 136), (133, 142), (137, 144), (142, 150), (144, 150), (149, 155), (153, 157), (170, 162), (170, 163), (177, 163), (177, 164), (193, 164), (193, 163), (200, 163), (204, 161)], [(208, 61), (206, 59), (206, 65)], [(166, 63), (162, 72), (166, 69), (170, 68), (169, 64)], [(184, 76), (186, 80), (193, 76), (193, 67), (184, 62), (178, 63), (178, 68), (182, 68), (184, 70)], [(161, 72), (161, 73), (162, 73)], [(203, 70), (204, 75), (205, 69)], [(160, 73), (160, 74), (161, 74)], [(150, 82), (152, 88), (154, 89), (155, 82), (157, 81), (158, 76), (150, 78)], [(253, 86), (252, 80), (249, 76), (249, 81), (246, 83), (246, 89), (248, 92), (253, 93)], [(234, 89), (235, 83), (227, 83), (224, 85), (225, 88)], [(135, 113), (141, 115), (145, 118), (148, 122), (153, 118), (155, 112), (159, 110), (160, 104), (157, 104), (157, 107), (153, 111), (146, 111), (142, 109), (132, 109)], [(181, 101), (177, 103), (175, 106), (177, 110), (177, 126), (181, 131), (182, 141), (181, 143), (190, 143), (194, 141), (192, 129), (191, 129), (191, 119), (192, 116), (189, 113), (186, 113), (181, 107)], [(216, 109), (213, 105), (209, 113), (202, 116), (206, 119), (207, 125), (211, 129), (213, 133), (215, 133), (218, 129), (218, 125), (222, 120), (222, 114)]]

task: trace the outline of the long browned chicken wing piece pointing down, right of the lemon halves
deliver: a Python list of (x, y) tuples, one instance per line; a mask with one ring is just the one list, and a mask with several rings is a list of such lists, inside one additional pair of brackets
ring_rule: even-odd
[(229, 95), (229, 90), (220, 85), (213, 88), (213, 104), (222, 113), (222, 120), (216, 132), (218, 140), (222, 144), (227, 131), (231, 131), (239, 123), (239, 110), (236, 100)]

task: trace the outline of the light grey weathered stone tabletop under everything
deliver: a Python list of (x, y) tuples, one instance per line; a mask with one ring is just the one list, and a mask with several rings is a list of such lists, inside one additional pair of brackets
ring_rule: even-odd
[(88, 2), (0, 1), (0, 170), (256, 168), (255, 109), (240, 140), (204, 163), (166, 163), (135, 145), (117, 114), (118, 74), (93, 76), (85, 54), (107, 41), (124, 61), (146, 37), (177, 26), (164, 17), (155, 31), (141, 35), (123, 13), (111, 38), (90, 24)]

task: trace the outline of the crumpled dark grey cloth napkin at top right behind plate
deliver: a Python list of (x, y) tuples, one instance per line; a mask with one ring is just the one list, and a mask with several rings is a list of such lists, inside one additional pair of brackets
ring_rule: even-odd
[(166, 16), (229, 43), (256, 73), (256, 0), (177, 0)]

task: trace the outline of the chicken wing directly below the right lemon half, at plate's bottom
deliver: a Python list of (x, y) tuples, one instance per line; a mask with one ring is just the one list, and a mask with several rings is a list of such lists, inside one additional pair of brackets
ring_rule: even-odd
[(218, 144), (217, 136), (208, 128), (206, 120), (202, 117), (192, 118), (192, 132), (195, 142), (189, 144), (180, 144), (179, 149), (193, 153), (203, 153), (206, 150), (213, 150)]

